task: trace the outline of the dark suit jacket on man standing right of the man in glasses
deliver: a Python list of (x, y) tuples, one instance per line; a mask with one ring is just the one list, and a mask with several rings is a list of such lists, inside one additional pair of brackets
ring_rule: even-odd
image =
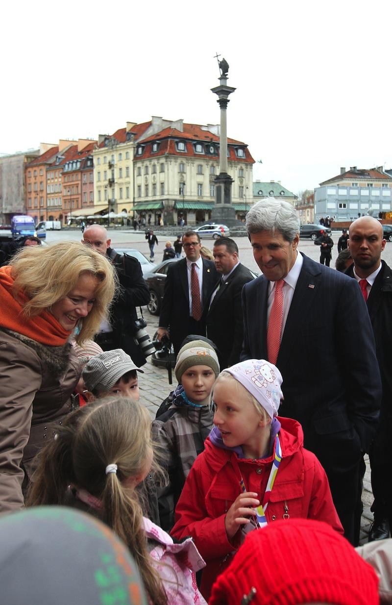
[(240, 263), (221, 284), (207, 313), (207, 336), (219, 349), (221, 370), (240, 361), (244, 339), (241, 291), (252, 280), (252, 273)]

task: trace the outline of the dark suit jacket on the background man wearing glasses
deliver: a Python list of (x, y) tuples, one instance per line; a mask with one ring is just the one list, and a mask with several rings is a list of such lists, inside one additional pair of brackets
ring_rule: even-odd
[[(203, 258), (203, 286), (201, 304), (203, 316), (200, 329), (204, 330), (206, 315), (211, 298), (212, 290), (218, 280), (218, 272), (212, 261)], [(162, 307), (159, 316), (159, 326), (169, 328), (170, 339), (173, 343), (175, 353), (180, 350), (181, 342), (188, 336), (189, 323), (189, 289), (188, 273), (186, 270), (186, 258), (181, 258), (177, 263), (170, 263), (168, 275), (165, 280), (165, 293), (163, 295)]]

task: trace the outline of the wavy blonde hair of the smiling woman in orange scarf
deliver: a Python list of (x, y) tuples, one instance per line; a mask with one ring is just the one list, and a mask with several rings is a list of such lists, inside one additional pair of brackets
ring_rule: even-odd
[(90, 246), (75, 241), (62, 241), (50, 246), (23, 247), (10, 262), (14, 278), (13, 293), (24, 293), (27, 317), (39, 315), (67, 296), (81, 275), (97, 278), (95, 301), (87, 317), (80, 322), (76, 342), (92, 339), (99, 330), (117, 290), (118, 278), (111, 262)]

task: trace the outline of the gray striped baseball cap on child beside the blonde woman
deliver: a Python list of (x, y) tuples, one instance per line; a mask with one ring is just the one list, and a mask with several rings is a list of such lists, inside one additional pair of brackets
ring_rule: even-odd
[(122, 348), (114, 348), (90, 359), (83, 368), (82, 378), (89, 391), (94, 389), (108, 391), (131, 370), (144, 373), (144, 370), (138, 368)]

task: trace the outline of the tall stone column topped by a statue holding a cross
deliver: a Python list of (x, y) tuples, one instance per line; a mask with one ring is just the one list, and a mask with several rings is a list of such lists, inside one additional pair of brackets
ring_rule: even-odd
[(217, 102), (220, 106), (220, 165), (219, 174), (215, 177), (215, 206), (212, 209), (211, 219), (217, 223), (233, 223), (235, 220), (235, 209), (232, 206), (231, 189), (233, 179), (227, 173), (227, 103), (229, 95), (234, 93), (235, 88), (227, 86), (227, 72), (229, 65), (223, 59), (219, 62), (221, 76), (220, 85), (211, 88), (218, 96)]

